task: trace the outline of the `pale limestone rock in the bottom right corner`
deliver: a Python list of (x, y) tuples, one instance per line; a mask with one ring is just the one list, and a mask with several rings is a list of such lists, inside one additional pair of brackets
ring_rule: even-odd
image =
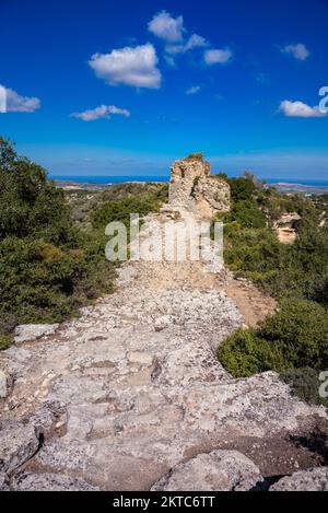
[(313, 468), (284, 477), (270, 491), (328, 491), (328, 467)]

